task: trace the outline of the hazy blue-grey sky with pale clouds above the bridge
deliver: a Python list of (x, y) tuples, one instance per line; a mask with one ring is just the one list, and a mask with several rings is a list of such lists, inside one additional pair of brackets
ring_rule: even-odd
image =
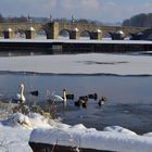
[(122, 22), (135, 14), (151, 13), (152, 0), (0, 0), (4, 16), (90, 18), (101, 22)]

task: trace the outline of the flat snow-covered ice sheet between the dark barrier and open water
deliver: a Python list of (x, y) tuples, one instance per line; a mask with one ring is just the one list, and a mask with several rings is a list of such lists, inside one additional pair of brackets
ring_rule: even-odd
[(152, 58), (105, 53), (0, 58), (0, 71), (152, 75)]

